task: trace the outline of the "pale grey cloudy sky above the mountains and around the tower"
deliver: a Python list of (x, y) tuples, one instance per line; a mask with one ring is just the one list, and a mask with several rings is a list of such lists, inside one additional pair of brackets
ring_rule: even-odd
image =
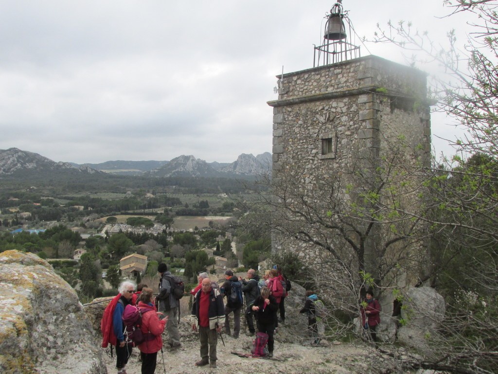
[[(443, 38), (463, 23), (432, 16), (448, 13), (442, 2), (343, 4), (359, 36), (372, 37), (377, 22), (403, 19)], [(0, 149), (76, 163), (181, 154), (233, 162), (241, 153), (271, 152), (266, 102), (277, 98), (275, 75), (282, 66), (313, 67), (313, 44), (322, 43), (334, 1), (0, 4)], [(362, 55), (405, 63), (392, 46), (361, 47)], [(433, 134), (454, 137), (449, 123), (433, 117)], [(434, 136), (433, 145), (451, 151)]]

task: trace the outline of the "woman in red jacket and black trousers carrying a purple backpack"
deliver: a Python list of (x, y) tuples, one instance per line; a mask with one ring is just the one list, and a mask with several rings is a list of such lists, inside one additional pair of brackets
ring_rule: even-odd
[[(150, 334), (148, 340), (138, 345), (142, 362), (141, 374), (154, 374), (157, 352), (162, 349), (161, 334), (164, 331), (168, 317), (156, 312), (151, 288), (143, 288), (138, 298), (138, 308), (142, 314), (140, 330), (143, 335)], [(161, 318), (161, 319), (160, 319)]]

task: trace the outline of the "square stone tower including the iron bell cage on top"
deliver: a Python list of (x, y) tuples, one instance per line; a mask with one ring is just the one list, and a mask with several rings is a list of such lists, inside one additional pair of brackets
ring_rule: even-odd
[[(368, 211), (362, 216), (358, 211), (365, 201), (362, 194), (374, 191), (395, 144), (402, 140), (405, 146), (402, 151), (396, 148), (403, 167), (429, 163), (426, 74), (381, 57), (362, 57), (342, 1), (332, 6), (326, 18), (323, 42), (314, 47), (313, 67), (278, 75), (278, 99), (267, 103), (273, 108), (272, 183), (284, 191), (275, 197), (275, 217), (285, 217), (292, 228), (275, 232), (272, 248), (307, 257), (327, 256), (338, 249), (347, 253), (353, 248), (348, 260), (357, 256), (358, 268), (378, 279), (385, 266), (393, 266), (384, 265), (386, 256), (406, 251), (408, 258), (425, 250), (409, 233), (406, 241), (402, 238), (389, 244), (394, 229), (379, 222), (384, 216), (368, 217)], [(329, 195), (324, 181), (329, 183)], [(292, 198), (291, 189), (295, 192)], [(420, 205), (415, 193), (407, 193), (403, 199), (411, 208)], [(339, 204), (346, 208), (339, 209)], [(309, 217), (298, 214), (304, 210)], [(292, 214), (297, 219), (293, 220)], [(312, 214), (316, 215), (314, 221)], [(357, 219), (351, 219), (355, 214)], [(304, 232), (306, 235), (299, 234)], [(314, 243), (326, 243), (327, 250)], [(391, 281), (407, 286), (422, 277), (417, 271), (398, 275), (392, 275)]]

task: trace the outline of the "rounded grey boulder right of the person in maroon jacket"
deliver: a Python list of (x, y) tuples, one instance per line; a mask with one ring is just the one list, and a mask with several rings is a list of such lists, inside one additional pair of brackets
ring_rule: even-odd
[(435, 334), (444, 319), (443, 296), (430, 287), (410, 288), (403, 306), (401, 318), (406, 324), (398, 329), (398, 341), (429, 353), (426, 337)]

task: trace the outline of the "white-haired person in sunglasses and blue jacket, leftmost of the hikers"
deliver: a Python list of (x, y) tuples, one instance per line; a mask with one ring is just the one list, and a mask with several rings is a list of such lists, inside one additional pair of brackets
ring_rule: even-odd
[(117, 300), (116, 307), (113, 312), (113, 332), (116, 336), (116, 368), (118, 374), (126, 374), (126, 364), (131, 356), (133, 346), (127, 344), (124, 339), (124, 323), (122, 320), (124, 307), (131, 304), (131, 297), (135, 291), (135, 283), (126, 280), (122, 282), (118, 288), (120, 298)]

